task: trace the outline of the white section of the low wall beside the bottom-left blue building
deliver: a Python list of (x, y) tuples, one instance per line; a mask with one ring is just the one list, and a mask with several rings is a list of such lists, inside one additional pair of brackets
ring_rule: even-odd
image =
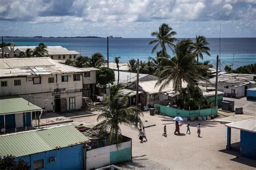
[(123, 150), (124, 148), (131, 147), (131, 141), (126, 141), (120, 146), (110, 145), (99, 147), (86, 152), (86, 169), (100, 168), (110, 165), (110, 152)]

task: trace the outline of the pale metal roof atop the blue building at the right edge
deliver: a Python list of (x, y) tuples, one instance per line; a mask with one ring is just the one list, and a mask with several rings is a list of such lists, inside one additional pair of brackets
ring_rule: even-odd
[(256, 133), (256, 118), (225, 124), (225, 126)]

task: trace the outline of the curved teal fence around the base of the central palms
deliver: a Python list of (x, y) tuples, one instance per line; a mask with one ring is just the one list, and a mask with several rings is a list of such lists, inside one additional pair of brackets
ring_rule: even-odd
[(159, 107), (159, 112), (161, 114), (164, 114), (170, 117), (176, 117), (176, 116), (186, 117), (186, 118), (194, 117), (197, 119), (198, 117), (211, 116), (211, 115), (217, 116), (218, 114), (218, 107), (201, 109), (201, 110), (181, 110), (181, 109), (166, 107), (160, 104), (154, 104), (154, 108), (156, 107)]

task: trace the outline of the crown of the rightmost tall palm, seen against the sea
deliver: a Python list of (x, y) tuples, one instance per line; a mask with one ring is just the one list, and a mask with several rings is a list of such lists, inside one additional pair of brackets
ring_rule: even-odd
[(198, 59), (204, 59), (203, 53), (207, 54), (208, 56), (211, 56), (211, 54), (208, 52), (210, 51), (210, 48), (207, 47), (209, 43), (206, 40), (206, 37), (204, 36), (196, 36), (196, 42), (194, 42), (194, 53), (197, 55), (197, 63)]

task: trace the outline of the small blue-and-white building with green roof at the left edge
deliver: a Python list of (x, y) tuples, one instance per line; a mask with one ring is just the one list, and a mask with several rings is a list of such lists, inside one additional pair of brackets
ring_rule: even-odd
[(32, 127), (32, 114), (43, 109), (19, 96), (0, 97), (0, 129), (2, 133), (27, 130)]

